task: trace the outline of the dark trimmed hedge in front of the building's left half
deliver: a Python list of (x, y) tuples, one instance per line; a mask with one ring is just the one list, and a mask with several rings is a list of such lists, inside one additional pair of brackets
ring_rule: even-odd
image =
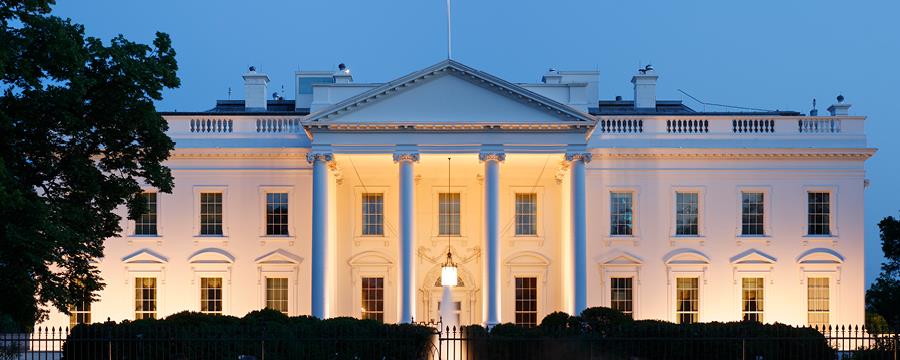
[(243, 318), (182, 312), (78, 325), (63, 359), (419, 359), (430, 353), (433, 333), (419, 325), (287, 317), (274, 310)]

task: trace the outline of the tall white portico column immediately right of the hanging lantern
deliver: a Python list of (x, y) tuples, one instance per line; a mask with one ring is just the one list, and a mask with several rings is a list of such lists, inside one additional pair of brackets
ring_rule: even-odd
[(500, 323), (500, 163), (503, 152), (482, 152), (484, 162), (484, 239), (487, 247), (487, 326)]

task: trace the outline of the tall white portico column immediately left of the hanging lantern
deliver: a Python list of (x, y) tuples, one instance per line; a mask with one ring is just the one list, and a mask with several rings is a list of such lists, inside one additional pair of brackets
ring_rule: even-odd
[(410, 323), (415, 316), (415, 172), (413, 163), (419, 153), (394, 153), (400, 167), (400, 322)]

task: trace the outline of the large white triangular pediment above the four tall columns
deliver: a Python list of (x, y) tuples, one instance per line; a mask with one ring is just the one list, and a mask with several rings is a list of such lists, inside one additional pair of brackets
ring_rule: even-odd
[(591, 124), (564, 104), (452, 60), (310, 115), (332, 124)]

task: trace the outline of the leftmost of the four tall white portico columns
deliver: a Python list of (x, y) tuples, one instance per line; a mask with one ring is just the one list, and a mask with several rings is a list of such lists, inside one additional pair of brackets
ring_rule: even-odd
[(313, 166), (313, 216), (312, 216), (312, 279), (310, 281), (310, 301), (312, 316), (324, 319), (327, 314), (328, 278), (328, 163), (334, 155), (325, 152), (306, 154), (306, 161)]

